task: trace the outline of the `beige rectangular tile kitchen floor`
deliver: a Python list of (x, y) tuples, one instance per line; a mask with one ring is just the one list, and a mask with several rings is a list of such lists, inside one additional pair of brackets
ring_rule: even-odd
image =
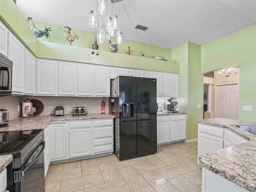
[(50, 165), (46, 192), (200, 192), (197, 142), (158, 146), (156, 154), (119, 161), (109, 155)]

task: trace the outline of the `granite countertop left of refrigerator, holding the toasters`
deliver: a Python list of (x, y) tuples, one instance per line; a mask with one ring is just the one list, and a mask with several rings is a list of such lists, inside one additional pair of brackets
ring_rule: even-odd
[(86, 116), (35, 116), (31, 118), (17, 118), (9, 121), (9, 127), (0, 128), (0, 132), (3, 131), (16, 131), (16, 130), (32, 130), (32, 129), (44, 129), (51, 122), (54, 121), (73, 121), (73, 120), (90, 120), (90, 119), (108, 119), (114, 118), (111, 114), (87, 114)]

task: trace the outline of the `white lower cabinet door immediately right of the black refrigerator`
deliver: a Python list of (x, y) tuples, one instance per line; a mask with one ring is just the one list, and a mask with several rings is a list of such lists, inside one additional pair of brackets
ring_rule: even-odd
[(170, 120), (157, 122), (157, 144), (170, 142)]

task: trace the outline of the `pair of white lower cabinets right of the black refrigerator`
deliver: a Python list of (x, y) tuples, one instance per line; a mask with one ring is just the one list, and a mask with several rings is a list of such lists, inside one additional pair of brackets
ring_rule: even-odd
[(186, 115), (157, 117), (157, 144), (182, 141), (186, 138)]

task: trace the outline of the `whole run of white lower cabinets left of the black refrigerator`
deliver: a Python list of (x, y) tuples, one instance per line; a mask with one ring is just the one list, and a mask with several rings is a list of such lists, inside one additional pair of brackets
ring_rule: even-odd
[(54, 122), (51, 161), (83, 159), (113, 152), (113, 119)]

